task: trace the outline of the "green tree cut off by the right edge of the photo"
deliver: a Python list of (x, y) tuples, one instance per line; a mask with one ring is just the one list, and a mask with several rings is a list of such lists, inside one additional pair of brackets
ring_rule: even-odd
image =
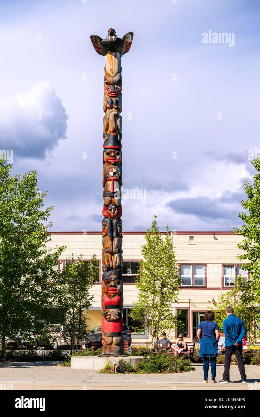
[[(245, 211), (238, 214), (243, 225), (234, 228), (234, 232), (243, 236), (238, 248), (243, 251), (238, 255), (243, 269), (250, 273), (250, 281), (244, 289), (240, 289), (240, 300), (244, 307), (251, 312), (254, 320), (260, 320), (260, 158), (252, 160), (257, 173), (254, 181), (244, 182), (246, 199), (242, 201)], [(252, 300), (254, 302), (252, 303)]]

